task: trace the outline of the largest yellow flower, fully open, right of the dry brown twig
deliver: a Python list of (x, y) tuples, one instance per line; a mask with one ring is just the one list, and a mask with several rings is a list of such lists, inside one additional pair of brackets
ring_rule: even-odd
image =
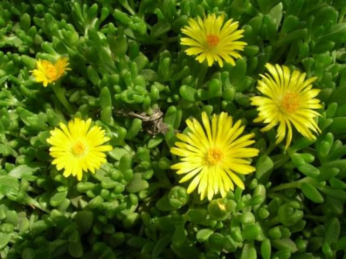
[(208, 200), (217, 193), (225, 197), (234, 189), (234, 184), (244, 189), (244, 183), (237, 174), (246, 175), (255, 171), (247, 157), (258, 155), (258, 149), (249, 148), (255, 141), (251, 140), (253, 133), (239, 137), (245, 126), (241, 121), (233, 124), (232, 117), (227, 113), (213, 115), (212, 121), (206, 112), (202, 113), (203, 127), (197, 119), (188, 119), (188, 133), (177, 133), (181, 142), (176, 142), (170, 149), (174, 155), (179, 155), (181, 162), (171, 166), (177, 169), (177, 174), (185, 176), (180, 182), (194, 178), (188, 186), (192, 193), (198, 186), (201, 200)]

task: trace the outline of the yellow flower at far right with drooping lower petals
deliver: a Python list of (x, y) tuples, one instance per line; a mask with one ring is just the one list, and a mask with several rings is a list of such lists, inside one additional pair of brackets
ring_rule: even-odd
[(277, 128), (276, 143), (282, 142), (285, 135), (288, 148), (292, 140), (292, 125), (297, 131), (309, 140), (315, 136), (313, 132), (320, 132), (315, 118), (320, 115), (313, 109), (322, 108), (320, 100), (315, 97), (320, 89), (313, 89), (312, 83), (317, 77), (305, 80), (306, 74), (294, 70), (293, 73), (286, 66), (266, 64), (268, 73), (260, 75), (257, 89), (265, 95), (251, 97), (251, 104), (257, 107), (258, 117), (254, 122), (268, 124), (262, 131), (269, 131), (275, 125)]

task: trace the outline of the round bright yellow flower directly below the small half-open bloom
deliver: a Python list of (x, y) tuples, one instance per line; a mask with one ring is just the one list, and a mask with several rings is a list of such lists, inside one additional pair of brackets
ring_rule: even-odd
[(49, 148), (54, 157), (52, 164), (56, 164), (57, 170), (64, 169), (66, 178), (77, 175), (78, 180), (82, 180), (84, 171), (95, 173), (95, 169), (107, 162), (104, 152), (113, 148), (103, 144), (109, 141), (109, 137), (104, 136), (100, 126), (90, 128), (91, 119), (75, 118), (68, 125), (60, 123), (59, 126), (51, 131), (47, 142), (52, 145)]

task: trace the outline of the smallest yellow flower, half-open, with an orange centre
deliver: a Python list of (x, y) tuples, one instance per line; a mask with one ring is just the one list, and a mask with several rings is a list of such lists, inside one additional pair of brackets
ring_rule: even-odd
[(46, 87), (62, 77), (66, 70), (71, 70), (67, 66), (69, 66), (68, 57), (59, 57), (54, 65), (48, 60), (39, 59), (36, 61), (36, 69), (31, 70), (30, 73), (33, 74), (37, 82), (42, 82)]

